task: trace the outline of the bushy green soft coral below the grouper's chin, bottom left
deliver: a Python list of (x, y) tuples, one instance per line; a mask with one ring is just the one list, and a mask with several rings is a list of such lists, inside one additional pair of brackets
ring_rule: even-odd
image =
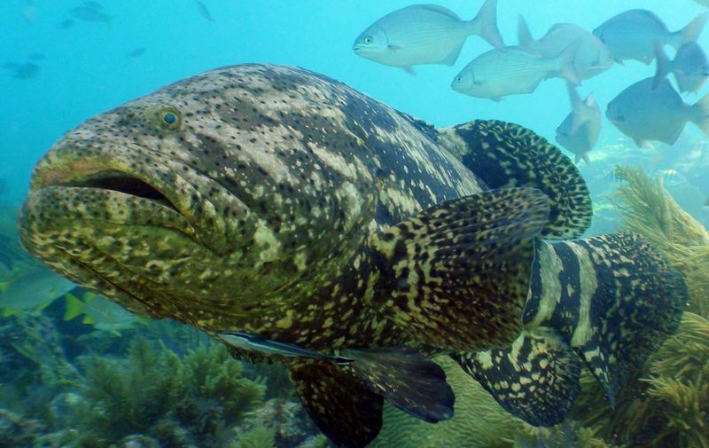
[(72, 413), (80, 446), (151, 436), (165, 446), (230, 446), (231, 428), (261, 405), (265, 387), (241, 375), (226, 350), (199, 347), (183, 358), (146, 339), (127, 358), (81, 360), (84, 378)]

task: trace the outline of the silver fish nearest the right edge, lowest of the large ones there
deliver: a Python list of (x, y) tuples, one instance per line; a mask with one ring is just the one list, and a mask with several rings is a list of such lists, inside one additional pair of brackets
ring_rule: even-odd
[(673, 145), (687, 122), (709, 135), (709, 95), (690, 106), (669, 81), (655, 89), (653, 81), (647, 78), (620, 92), (608, 104), (606, 118), (638, 146), (651, 140)]

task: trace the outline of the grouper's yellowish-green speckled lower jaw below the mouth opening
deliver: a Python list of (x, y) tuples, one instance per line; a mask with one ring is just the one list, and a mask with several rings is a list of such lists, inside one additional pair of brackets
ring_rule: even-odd
[(102, 188), (33, 191), (21, 210), (19, 233), (28, 252), (82, 287), (162, 317), (169, 315), (161, 310), (164, 301), (152, 296), (169, 295), (175, 284), (204, 296), (199, 285), (180, 283), (191, 281), (183, 274), (188, 260), (199, 266), (214, 256), (162, 200)]

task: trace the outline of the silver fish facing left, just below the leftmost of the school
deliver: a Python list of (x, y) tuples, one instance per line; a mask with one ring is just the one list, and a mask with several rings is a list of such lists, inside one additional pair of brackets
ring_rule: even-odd
[(578, 49), (579, 43), (573, 43), (554, 58), (540, 58), (519, 47), (487, 51), (465, 66), (450, 87), (471, 97), (500, 101), (506, 95), (532, 93), (550, 77), (565, 78), (578, 85), (574, 67)]

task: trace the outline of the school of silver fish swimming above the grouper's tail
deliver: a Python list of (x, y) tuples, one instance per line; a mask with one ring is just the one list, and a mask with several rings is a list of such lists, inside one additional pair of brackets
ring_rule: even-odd
[[(702, 2), (698, 2), (703, 4)], [(670, 31), (653, 12), (635, 9), (621, 12), (592, 31), (571, 23), (557, 23), (534, 39), (526, 20), (518, 20), (518, 45), (505, 46), (497, 29), (497, 2), (487, 0), (471, 21), (431, 4), (417, 4), (376, 20), (354, 42), (362, 58), (409, 73), (423, 64), (453, 65), (468, 35), (479, 35), (495, 48), (481, 54), (458, 73), (450, 84), (456, 92), (475, 98), (500, 101), (508, 95), (533, 93), (546, 79), (559, 77), (571, 86), (572, 110), (557, 128), (557, 143), (573, 153), (576, 161), (590, 162), (601, 130), (597, 98), (581, 101), (575, 86), (604, 74), (614, 64), (657, 59), (651, 88), (640, 82), (608, 103), (605, 116), (637, 145), (660, 141), (672, 145), (687, 122), (709, 133), (706, 116), (709, 99), (686, 105), (671, 83), (674, 75), (682, 93), (697, 92), (709, 78), (709, 62), (697, 38), (709, 13), (702, 13), (687, 26)], [(669, 59), (665, 47), (675, 50)], [(624, 112), (623, 112), (624, 111)], [(650, 129), (655, 128), (655, 129)]]

